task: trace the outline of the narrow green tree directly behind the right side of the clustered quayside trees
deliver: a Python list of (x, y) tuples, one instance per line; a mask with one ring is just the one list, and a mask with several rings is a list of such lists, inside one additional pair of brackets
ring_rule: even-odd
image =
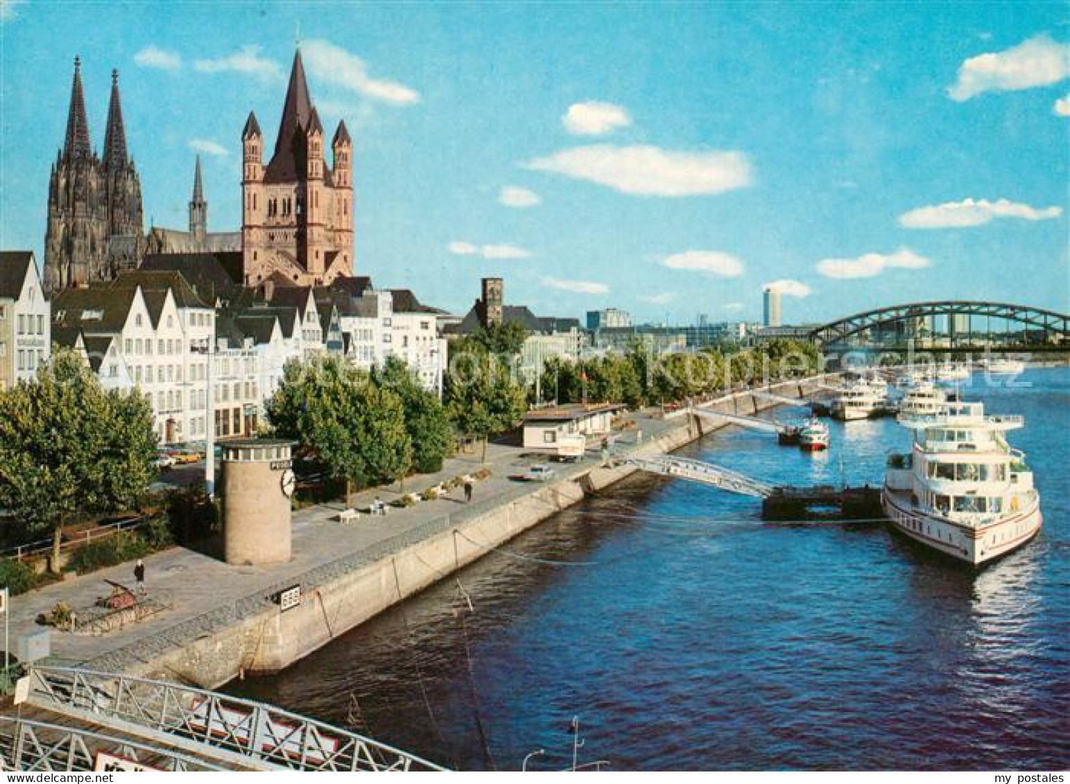
[(371, 374), (377, 386), (401, 399), (404, 427), (412, 443), (412, 465), (421, 474), (442, 470), (443, 459), (454, 446), (454, 426), (438, 397), (421, 386), (415, 374), (398, 357)]

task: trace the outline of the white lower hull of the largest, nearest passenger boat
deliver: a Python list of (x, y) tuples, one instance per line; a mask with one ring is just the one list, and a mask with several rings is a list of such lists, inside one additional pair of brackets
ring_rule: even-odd
[(887, 487), (881, 494), (881, 506), (899, 533), (972, 566), (981, 566), (1028, 543), (1043, 522), (1039, 499), (978, 528), (913, 509), (905, 493)]

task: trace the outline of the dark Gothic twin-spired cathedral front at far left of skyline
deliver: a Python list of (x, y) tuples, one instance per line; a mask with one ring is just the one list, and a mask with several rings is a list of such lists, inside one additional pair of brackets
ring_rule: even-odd
[(119, 73), (111, 72), (101, 158), (90, 147), (80, 64), (75, 58), (66, 136), (48, 182), (45, 286), (55, 292), (111, 280), (120, 271), (136, 267), (143, 251), (141, 183), (126, 151)]

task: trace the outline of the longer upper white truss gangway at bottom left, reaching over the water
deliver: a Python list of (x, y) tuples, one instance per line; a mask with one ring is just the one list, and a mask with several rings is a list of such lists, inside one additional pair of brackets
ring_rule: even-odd
[(262, 770), (444, 770), (263, 703), (178, 683), (73, 667), (30, 670), (33, 705), (198, 755)]

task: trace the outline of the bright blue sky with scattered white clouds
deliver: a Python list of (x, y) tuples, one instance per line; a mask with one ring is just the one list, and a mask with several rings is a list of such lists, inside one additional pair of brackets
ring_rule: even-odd
[(210, 229), (240, 228), (241, 129), (273, 148), (299, 25), (382, 288), (462, 311), (494, 274), (542, 314), (674, 323), (756, 320), (770, 281), (792, 322), (1070, 310), (1063, 3), (0, 0), (0, 247), (40, 259), (75, 55), (97, 148), (120, 70), (147, 225), (185, 227), (197, 148)]

